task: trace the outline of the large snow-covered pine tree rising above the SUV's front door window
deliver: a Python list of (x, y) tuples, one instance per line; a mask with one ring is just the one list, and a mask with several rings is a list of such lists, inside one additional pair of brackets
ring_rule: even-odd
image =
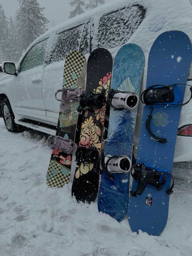
[(39, 7), (36, 0), (18, 0), (20, 8), (16, 11), (17, 33), (19, 35), (19, 52), (23, 50), (40, 35), (46, 32), (49, 22), (42, 13), (45, 7)]

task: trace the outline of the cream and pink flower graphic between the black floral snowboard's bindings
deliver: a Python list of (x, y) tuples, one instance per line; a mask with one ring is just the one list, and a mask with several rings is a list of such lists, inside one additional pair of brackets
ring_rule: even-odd
[(82, 123), (79, 146), (101, 148), (99, 136), (101, 136), (101, 130), (90, 116)]

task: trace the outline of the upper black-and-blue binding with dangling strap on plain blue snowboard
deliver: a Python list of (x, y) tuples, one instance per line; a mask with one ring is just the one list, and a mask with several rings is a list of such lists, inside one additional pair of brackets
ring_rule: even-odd
[(192, 98), (192, 86), (188, 85), (190, 86), (191, 92), (190, 99), (183, 104), (179, 104), (182, 99), (182, 93), (176, 85), (187, 84), (152, 85), (148, 86), (148, 88), (141, 94), (142, 103), (151, 108), (151, 113), (147, 116), (145, 123), (146, 130), (153, 139), (160, 143), (166, 143), (167, 139), (154, 135), (150, 129), (153, 108), (156, 106), (184, 106), (189, 103)]

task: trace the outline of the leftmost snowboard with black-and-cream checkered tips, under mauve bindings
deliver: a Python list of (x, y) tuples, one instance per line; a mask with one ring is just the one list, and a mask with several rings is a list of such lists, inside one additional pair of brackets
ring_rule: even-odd
[[(85, 83), (87, 61), (85, 56), (79, 51), (70, 51), (65, 58), (63, 89), (83, 88)], [(57, 124), (57, 136), (72, 139), (79, 143), (79, 134), (76, 134), (78, 113), (76, 108), (79, 103), (67, 103), (67, 109), (71, 110), (70, 114), (59, 112)], [(80, 120), (81, 123), (81, 120)], [(52, 150), (51, 160), (49, 163), (46, 182), (48, 187), (63, 187), (68, 183), (71, 171), (72, 154), (66, 154), (61, 150)]]

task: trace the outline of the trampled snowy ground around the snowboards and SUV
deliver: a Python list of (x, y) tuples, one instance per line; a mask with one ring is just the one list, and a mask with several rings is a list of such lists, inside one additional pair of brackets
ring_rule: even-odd
[(161, 236), (137, 235), (127, 217), (118, 223), (99, 213), (96, 201), (77, 203), (71, 182), (47, 187), (46, 134), (9, 133), (2, 118), (0, 131), (1, 256), (124, 256), (135, 245), (154, 256), (192, 255), (192, 162), (174, 164), (174, 193)]

